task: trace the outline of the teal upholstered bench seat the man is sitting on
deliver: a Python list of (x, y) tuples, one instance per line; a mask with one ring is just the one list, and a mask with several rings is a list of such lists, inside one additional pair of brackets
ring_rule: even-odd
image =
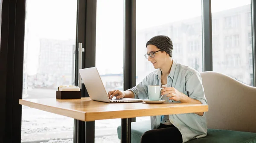
[[(132, 122), (131, 143), (140, 143), (140, 137), (148, 130), (150, 130), (150, 121)], [(121, 126), (118, 126), (117, 134), (121, 139)], [(190, 140), (187, 143), (256, 143), (256, 133), (208, 129), (206, 137)]]

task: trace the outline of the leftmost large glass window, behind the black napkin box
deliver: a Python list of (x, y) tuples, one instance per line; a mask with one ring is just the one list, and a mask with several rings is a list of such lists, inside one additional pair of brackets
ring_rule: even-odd
[[(76, 0), (26, 0), (23, 99), (56, 98), (58, 85), (73, 84), (76, 11)], [(23, 106), (21, 142), (70, 143), (73, 124), (73, 118)]]

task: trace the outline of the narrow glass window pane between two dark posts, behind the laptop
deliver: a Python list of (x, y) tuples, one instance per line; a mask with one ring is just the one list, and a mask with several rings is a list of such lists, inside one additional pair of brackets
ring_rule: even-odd
[[(123, 90), (123, 39), (124, 1), (97, 0), (96, 67), (107, 92)], [(120, 124), (120, 119), (95, 121), (95, 137), (102, 138), (99, 143), (118, 143)]]

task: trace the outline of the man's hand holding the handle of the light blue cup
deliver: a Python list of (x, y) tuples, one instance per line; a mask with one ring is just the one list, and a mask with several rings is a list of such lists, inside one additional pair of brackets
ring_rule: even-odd
[(164, 89), (161, 90), (161, 95), (166, 95), (169, 97), (170, 100), (175, 100), (175, 101), (181, 101), (185, 94), (179, 92), (176, 90), (174, 87), (163, 87)]

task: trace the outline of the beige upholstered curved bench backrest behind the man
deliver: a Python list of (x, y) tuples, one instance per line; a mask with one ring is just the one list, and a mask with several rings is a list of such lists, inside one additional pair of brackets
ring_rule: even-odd
[(256, 132), (256, 87), (243, 84), (216, 72), (202, 72), (209, 111), (207, 126)]

